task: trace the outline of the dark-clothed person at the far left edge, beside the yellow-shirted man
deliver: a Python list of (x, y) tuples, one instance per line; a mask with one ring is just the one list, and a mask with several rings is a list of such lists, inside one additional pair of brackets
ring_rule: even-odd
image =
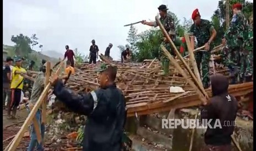
[[(10, 66), (13, 63), (13, 59), (11, 57), (6, 58), (6, 65), (3, 66), (3, 108), (8, 107), (10, 102), (10, 82), (11, 82), (11, 73), (12, 70)], [(6, 104), (7, 99), (7, 104)]]

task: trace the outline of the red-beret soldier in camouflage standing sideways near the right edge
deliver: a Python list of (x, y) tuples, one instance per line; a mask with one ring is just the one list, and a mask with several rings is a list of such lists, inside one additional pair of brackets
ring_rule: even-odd
[(223, 64), (230, 69), (231, 84), (237, 83), (243, 44), (248, 39), (248, 22), (241, 10), (241, 4), (233, 5), (233, 18), (222, 39), (225, 47), (221, 57)]

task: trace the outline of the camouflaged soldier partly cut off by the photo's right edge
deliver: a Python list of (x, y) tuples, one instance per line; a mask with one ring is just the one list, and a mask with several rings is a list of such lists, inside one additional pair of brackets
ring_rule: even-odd
[(248, 38), (245, 40), (241, 53), (240, 78), (245, 78), (246, 82), (252, 80), (253, 75), (253, 27), (249, 26)]

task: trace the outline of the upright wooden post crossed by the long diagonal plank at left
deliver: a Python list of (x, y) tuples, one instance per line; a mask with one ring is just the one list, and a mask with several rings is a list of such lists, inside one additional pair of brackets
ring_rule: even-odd
[[(50, 71), (51, 71), (51, 63), (46, 62), (46, 72), (45, 72), (45, 87), (49, 83), (49, 78), (50, 78)], [(47, 96), (43, 98), (43, 103), (42, 103), (42, 121), (41, 123), (46, 124), (46, 106), (47, 106)]]

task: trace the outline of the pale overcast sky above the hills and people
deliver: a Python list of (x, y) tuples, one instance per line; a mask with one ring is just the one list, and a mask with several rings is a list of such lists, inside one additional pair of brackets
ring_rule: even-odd
[[(112, 43), (110, 55), (119, 59), (117, 45), (127, 44), (129, 31), (129, 26), (123, 25), (154, 20), (161, 4), (166, 4), (178, 19), (190, 19), (196, 8), (201, 18), (210, 19), (217, 3), (218, 0), (3, 0), (3, 44), (14, 45), (12, 35), (23, 33), (30, 37), (35, 33), (43, 51), (55, 50), (64, 55), (65, 45), (69, 45), (88, 55), (91, 40), (95, 39), (102, 54)], [(138, 32), (150, 29), (142, 24), (135, 27)]]

